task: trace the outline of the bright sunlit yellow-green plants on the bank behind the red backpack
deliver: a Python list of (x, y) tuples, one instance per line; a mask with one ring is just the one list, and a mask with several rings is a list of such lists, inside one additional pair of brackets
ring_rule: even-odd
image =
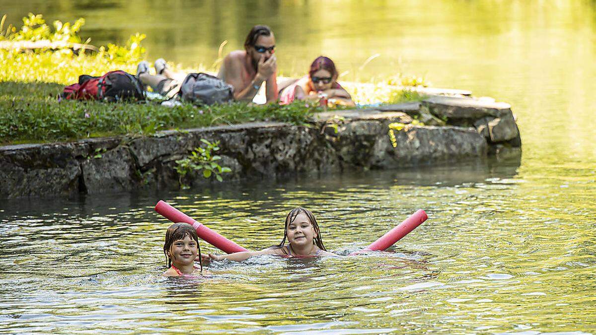
[[(100, 76), (115, 69), (134, 73), (136, 63), (145, 53), (145, 48), (141, 46), (145, 35), (139, 33), (132, 35), (124, 46), (108, 44), (91, 54), (73, 51), (73, 44), (80, 44), (82, 41), (86, 44), (90, 41), (80, 36), (80, 29), (85, 24), (83, 18), (72, 24), (54, 21), (53, 26), (48, 26), (43, 15), (29, 13), (28, 17), (23, 18), (20, 30), (9, 26), (4, 31), (2, 26), (5, 17), (6, 15), (0, 21), (0, 40), (16, 45), (22, 41), (48, 41), (50, 44), (27, 52), (19, 48), (0, 49), (0, 82), (52, 82), (69, 85), (77, 82), (82, 74)], [(50, 45), (54, 49), (48, 48)]]

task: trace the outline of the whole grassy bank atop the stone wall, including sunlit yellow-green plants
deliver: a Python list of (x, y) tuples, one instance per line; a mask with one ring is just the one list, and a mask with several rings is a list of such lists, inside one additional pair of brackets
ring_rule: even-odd
[[(49, 41), (80, 44), (85, 21), (45, 24), (41, 15), (23, 18), (20, 30), (2, 27), (0, 41)], [(156, 103), (100, 103), (58, 101), (64, 85), (82, 74), (103, 75), (111, 70), (136, 72), (144, 57), (144, 35), (131, 36), (126, 45), (100, 46), (95, 52), (59, 49), (0, 49), (0, 144), (69, 141), (113, 135), (148, 135), (164, 129), (226, 125), (259, 120), (304, 123), (317, 109), (304, 103), (289, 106), (250, 106), (232, 103), (169, 108)], [(173, 65), (173, 67), (176, 66)], [(178, 66), (179, 69), (179, 66)], [(193, 69), (193, 72), (205, 69)], [(378, 83), (353, 84), (349, 88), (357, 103), (418, 100), (420, 95)]]

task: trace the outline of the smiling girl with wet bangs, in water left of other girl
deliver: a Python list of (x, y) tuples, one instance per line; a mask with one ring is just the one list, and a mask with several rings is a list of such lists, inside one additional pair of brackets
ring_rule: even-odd
[(200, 272), (203, 272), (201, 247), (198, 245), (197, 232), (189, 224), (178, 223), (167, 228), (163, 253), (166, 255), (169, 268), (166, 272), (163, 272), (164, 277), (192, 275), (197, 269), (194, 265), (197, 253)]

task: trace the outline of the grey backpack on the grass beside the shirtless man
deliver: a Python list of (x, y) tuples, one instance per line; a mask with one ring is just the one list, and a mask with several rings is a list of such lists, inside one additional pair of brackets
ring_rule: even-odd
[(221, 104), (234, 99), (234, 87), (207, 73), (190, 73), (179, 92), (182, 101), (199, 104)]

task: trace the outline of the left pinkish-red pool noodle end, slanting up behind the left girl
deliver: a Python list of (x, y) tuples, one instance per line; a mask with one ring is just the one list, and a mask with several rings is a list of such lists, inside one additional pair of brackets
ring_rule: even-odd
[(242, 251), (249, 251), (244, 249), (238, 244), (228, 240), (227, 238), (219, 235), (217, 232), (212, 231), (205, 225), (201, 224), (200, 222), (195, 221), (190, 216), (180, 212), (178, 209), (170, 206), (170, 204), (166, 203), (166, 201), (160, 200), (155, 205), (155, 211), (163, 215), (166, 219), (172, 222), (186, 222), (189, 225), (192, 225), (194, 229), (197, 229), (198, 237), (202, 238), (209, 244), (212, 244), (214, 247), (222, 250), (226, 253), (234, 253), (234, 252), (242, 252)]

